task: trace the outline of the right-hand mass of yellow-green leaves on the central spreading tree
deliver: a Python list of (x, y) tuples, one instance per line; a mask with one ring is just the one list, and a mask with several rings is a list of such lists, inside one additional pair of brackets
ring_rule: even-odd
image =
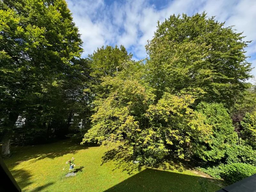
[[(198, 93), (196, 90), (192, 92)], [(212, 126), (205, 124), (205, 117), (194, 111), (190, 106), (195, 102), (197, 94), (179, 94), (172, 95), (165, 92), (163, 97), (156, 105), (150, 105), (146, 116), (150, 120), (152, 130), (144, 130), (146, 134), (144, 145), (150, 145), (152, 149), (153, 142), (176, 146), (176, 152), (180, 158), (184, 158), (182, 151), (184, 145), (189, 145), (191, 139), (210, 141), (212, 135)], [(163, 120), (165, 123), (163, 123)], [(154, 130), (154, 131), (153, 131)], [(163, 152), (167, 150), (168, 145), (164, 145)], [(158, 149), (162, 149), (159, 148)]]

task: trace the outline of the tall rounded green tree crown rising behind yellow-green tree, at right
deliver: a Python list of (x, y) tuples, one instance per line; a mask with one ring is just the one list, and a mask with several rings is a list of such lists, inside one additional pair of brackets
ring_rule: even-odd
[(250, 41), (243, 41), (242, 33), (224, 24), (205, 12), (158, 21), (146, 45), (148, 81), (157, 99), (164, 91), (200, 87), (205, 92), (203, 100), (226, 107), (234, 104), (235, 96), (248, 87), (245, 80), (252, 77), (244, 51)]

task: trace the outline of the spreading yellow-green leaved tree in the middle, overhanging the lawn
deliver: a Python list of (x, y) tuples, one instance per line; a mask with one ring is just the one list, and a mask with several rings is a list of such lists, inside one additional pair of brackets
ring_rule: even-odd
[(200, 89), (179, 95), (165, 92), (156, 104), (154, 89), (144, 78), (144, 64), (129, 61), (125, 66), (116, 76), (101, 79), (109, 94), (95, 100), (92, 128), (82, 143), (122, 146), (134, 160), (155, 164), (171, 152), (184, 158), (193, 137), (207, 140), (211, 126), (190, 108)]

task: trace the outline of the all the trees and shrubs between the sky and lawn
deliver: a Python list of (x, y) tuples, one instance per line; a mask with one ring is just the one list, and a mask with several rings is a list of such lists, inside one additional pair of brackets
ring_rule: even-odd
[(250, 41), (224, 24), (205, 12), (171, 15), (158, 21), (145, 60), (132, 60), (123, 45), (80, 58), (83, 42), (65, 0), (0, 1), (3, 154), (15, 135), (23, 144), (83, 135), (82, 144), (122, 148), (148, 166), (178, 157), (228, 182), (250, 175)]

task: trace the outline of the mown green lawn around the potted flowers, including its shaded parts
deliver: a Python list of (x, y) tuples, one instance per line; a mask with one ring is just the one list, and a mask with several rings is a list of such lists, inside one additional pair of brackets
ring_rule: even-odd
[[(12, 157), (4, 162), (22, 191), (201, 191), (197, 182), (202, 178), (200, 174), (144, 167), (138, 171), (125, 154), (112, 159), (114, 152), (108, 150), (62, 140), (12, 147)], [(75, 157), (77, 175), (66, 178), (68, 165), (65, 162), (71, 157)], [(218, 189), (217, 181), (209, 181), (209, 191)]]

